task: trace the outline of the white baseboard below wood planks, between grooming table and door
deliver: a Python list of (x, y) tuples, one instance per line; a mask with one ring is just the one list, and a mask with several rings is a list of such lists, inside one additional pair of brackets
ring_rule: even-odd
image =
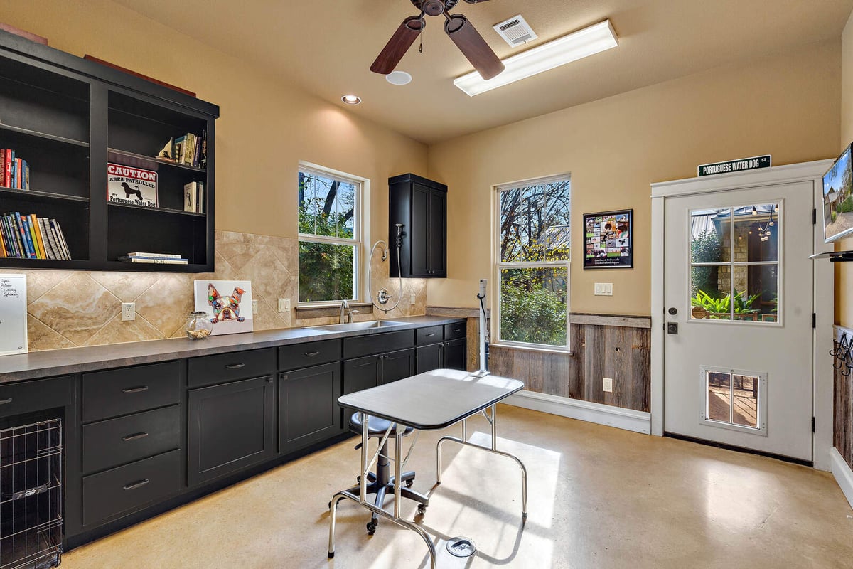
[(502, 403), (560, 415), (570, 419), (589, 421), (608, 427), (617, 427), (635, 433), (649, 434), (652, 430), (652, 415), (633, 409), (622, 409), (611, 405), (589, 403), (577, 399), (561, 398), (556, 395), (521, 391), (504, 399)]

